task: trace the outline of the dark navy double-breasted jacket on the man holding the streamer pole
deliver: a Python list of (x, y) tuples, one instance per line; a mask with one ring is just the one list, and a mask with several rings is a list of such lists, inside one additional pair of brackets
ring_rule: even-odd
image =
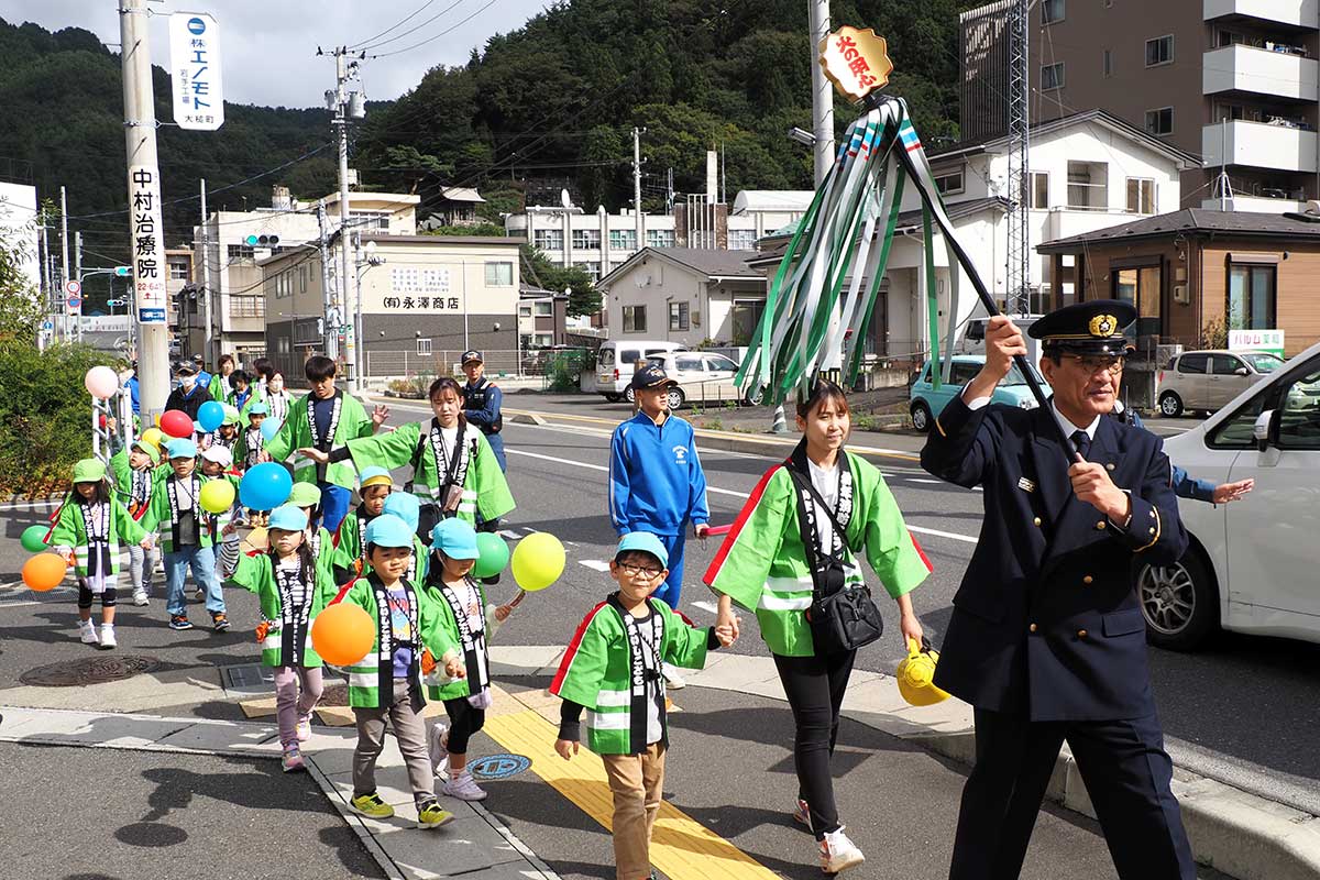
[(1155, 711), (1134, 558), (1171, 565), (1187, 533), (1154, 434), (1101, 418), (1086, 454), (1131, 495), (1131, 521), (1078, 500), (1052, 408), (961, 396), (921, 450), (941, 479), (985, 489), (977, 549), (953, 598), (935, 683), (978, 708), (1032, 720), (1115, 720)]

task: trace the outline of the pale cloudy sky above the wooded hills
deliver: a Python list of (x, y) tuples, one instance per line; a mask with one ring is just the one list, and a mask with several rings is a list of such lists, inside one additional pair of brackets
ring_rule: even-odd
[[(220, 28), (224, 99), (269, 107), (323, 106), (334, 86), (334, 58), (317, 46), (366, 44), (384, 33), (362, 65), (370, 100), (399, 98), (436, 65), (466, 63), (474, 47), (520, 28), (550, 0), (149, 0), (152, 62), (169, 70), (169, 15), (209, 12)], [(116, 0), (4, 0), (0, 17), (33, 21), (46, 30), (78, 26), (117, 51)], [(434, 18), (433, 21), (428, 21)], [(466, 21), (465, 21), (466, 20)], [(451, 32), (444, 33), (453, 28)], [(416, 44), (426, 41), (416, 49)], [(388, 42), (387, 42), (388, 41)], [(407, 49), (395, 55), (371, 58)]]

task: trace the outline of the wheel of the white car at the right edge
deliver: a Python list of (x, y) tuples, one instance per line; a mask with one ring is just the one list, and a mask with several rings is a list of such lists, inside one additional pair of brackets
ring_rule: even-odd
[(1188, 549), (1175, 565), (1138, 562), (1135, 577), (1150, 644), (1195, 650), (1218, 631), (1218, 590), (1197, 549)]

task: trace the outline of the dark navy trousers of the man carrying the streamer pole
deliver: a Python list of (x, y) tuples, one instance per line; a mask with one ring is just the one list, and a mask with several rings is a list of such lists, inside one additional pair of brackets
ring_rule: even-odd
[(949, 880), (1014, 880), (1067, 740), (1122, 880), (1195, 880), (1159, 719), (1032, 722), (975, 710)]

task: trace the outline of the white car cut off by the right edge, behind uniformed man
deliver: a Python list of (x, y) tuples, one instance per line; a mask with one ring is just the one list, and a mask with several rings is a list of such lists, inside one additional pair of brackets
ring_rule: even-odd
[(1320, 344), (1164, 450), (1192, 476), (1255, 488), (1232, 504), (1179, 499), (1187, 553), (1172, 566), (1138, 557), (1151, 644), (1191, 650), (1218, 629), (1320, 643)]

